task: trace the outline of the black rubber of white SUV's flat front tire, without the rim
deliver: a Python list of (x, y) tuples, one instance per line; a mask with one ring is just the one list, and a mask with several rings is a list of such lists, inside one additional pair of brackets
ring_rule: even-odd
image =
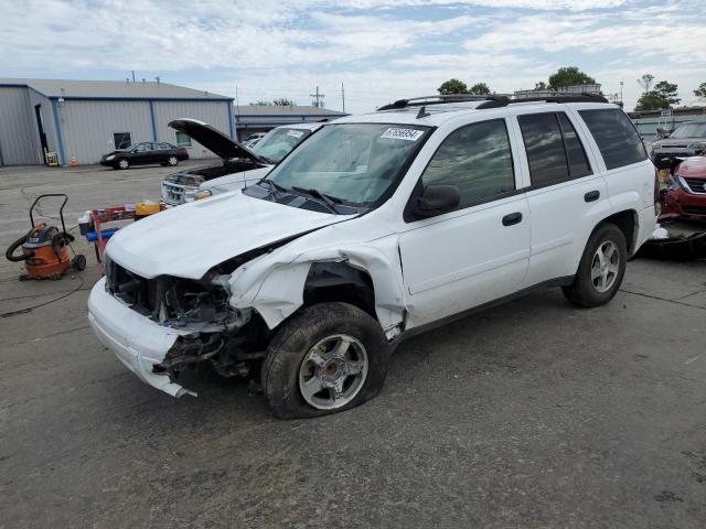
[[(359, 339), (367, 355), (367, 375), (357, 393), (344, 406), (319, 409), (300, 391), (300, 368), (320, 341), (346, 334)], [(379, 324), (366, 312), (347, 303), (308, 306), (285, 323), (272, 337), (261, 368), (263, 391), (272, 413), (280, 419), (311, 418), (349, 410), (375, 397), (385, 382), (391, 347)]]

